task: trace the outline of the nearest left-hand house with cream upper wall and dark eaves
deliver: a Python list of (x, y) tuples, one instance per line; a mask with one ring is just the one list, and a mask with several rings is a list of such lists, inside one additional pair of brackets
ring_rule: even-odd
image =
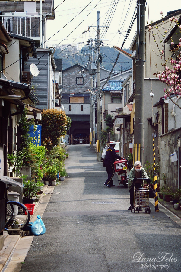
[[(18, 36), (18, 35), (17, 35)], [(4, 245), (7, 156), (15, 154), (20, 146), (17, 131), (25, 103), (38, 103), (27, 83), (22, 83), (22, 63), (29, 56), (36, 57), (34, 43), (30, 38), (9, 35), (3, 24), (0, 28), (0, 248)], [(13, 50), (14, 48), (14, 50)], [(9, 50), (8, 50), (9, 49)], [(30, 51), (29, 51), (30, 50)], [(33, 53), (32, 53), (33, 52)], [(21, 58), (19, 59), (19, 56)], [(4, 177), (5, 176), (5, 177)]]

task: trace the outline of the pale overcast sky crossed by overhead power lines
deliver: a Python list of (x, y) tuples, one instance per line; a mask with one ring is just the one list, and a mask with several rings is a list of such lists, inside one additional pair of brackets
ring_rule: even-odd
[[(100, 26), (109, 26), (107, 30), (100, 28), (104, 45), (121, 47), (136, 8), (135, 0), (54, 0), (54, 3), (55, 8), (59, 6), (55, 9), (55, 20), (47, 20), (47, 46), (71, 44), (78, 50), (87, 44), (88, 39), (95, 39), (98, 10)], [(147, 0), (145, 25), (146, 21), (161, 19), (160, 11), (165, 16), (168, 11), (179, 8), (181, 5), (177, 1)], [(92, 27), (85, 32), (88, 26)], [(123, 48), (129, 48), (135, 31), (136, 21)]]

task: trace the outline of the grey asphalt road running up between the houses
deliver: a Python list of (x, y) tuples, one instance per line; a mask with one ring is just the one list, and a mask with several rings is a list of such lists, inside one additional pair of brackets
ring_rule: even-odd
[(68, 176), (43, 214), (44, 235), (22, 265), (26, 272), (181, 271), (181, 227), (163, 212), (128, 211), (129, 191), (104, 185), (107, 173), (89, 145), (69, 145)]

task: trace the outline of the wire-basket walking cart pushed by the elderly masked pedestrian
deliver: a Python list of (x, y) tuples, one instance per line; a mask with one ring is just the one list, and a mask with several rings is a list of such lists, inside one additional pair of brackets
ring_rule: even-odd
[[(147, 179), (141, 179), (147, 180)], [(139, 209), (145, 208), (145, 213), (151, 213), (149, 206), (149, 187), (148, 184), (146, 188), (135, 188), (134, 189), (134, 213), (137, 211), (139, 213)], [(131, 206), (131, 212), (133, 210), (133, 206)]]

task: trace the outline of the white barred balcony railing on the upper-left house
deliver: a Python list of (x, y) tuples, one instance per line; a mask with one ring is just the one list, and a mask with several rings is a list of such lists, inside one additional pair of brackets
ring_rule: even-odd
[(12, 33), (40, 37), (40, 17), (13, 17)]

